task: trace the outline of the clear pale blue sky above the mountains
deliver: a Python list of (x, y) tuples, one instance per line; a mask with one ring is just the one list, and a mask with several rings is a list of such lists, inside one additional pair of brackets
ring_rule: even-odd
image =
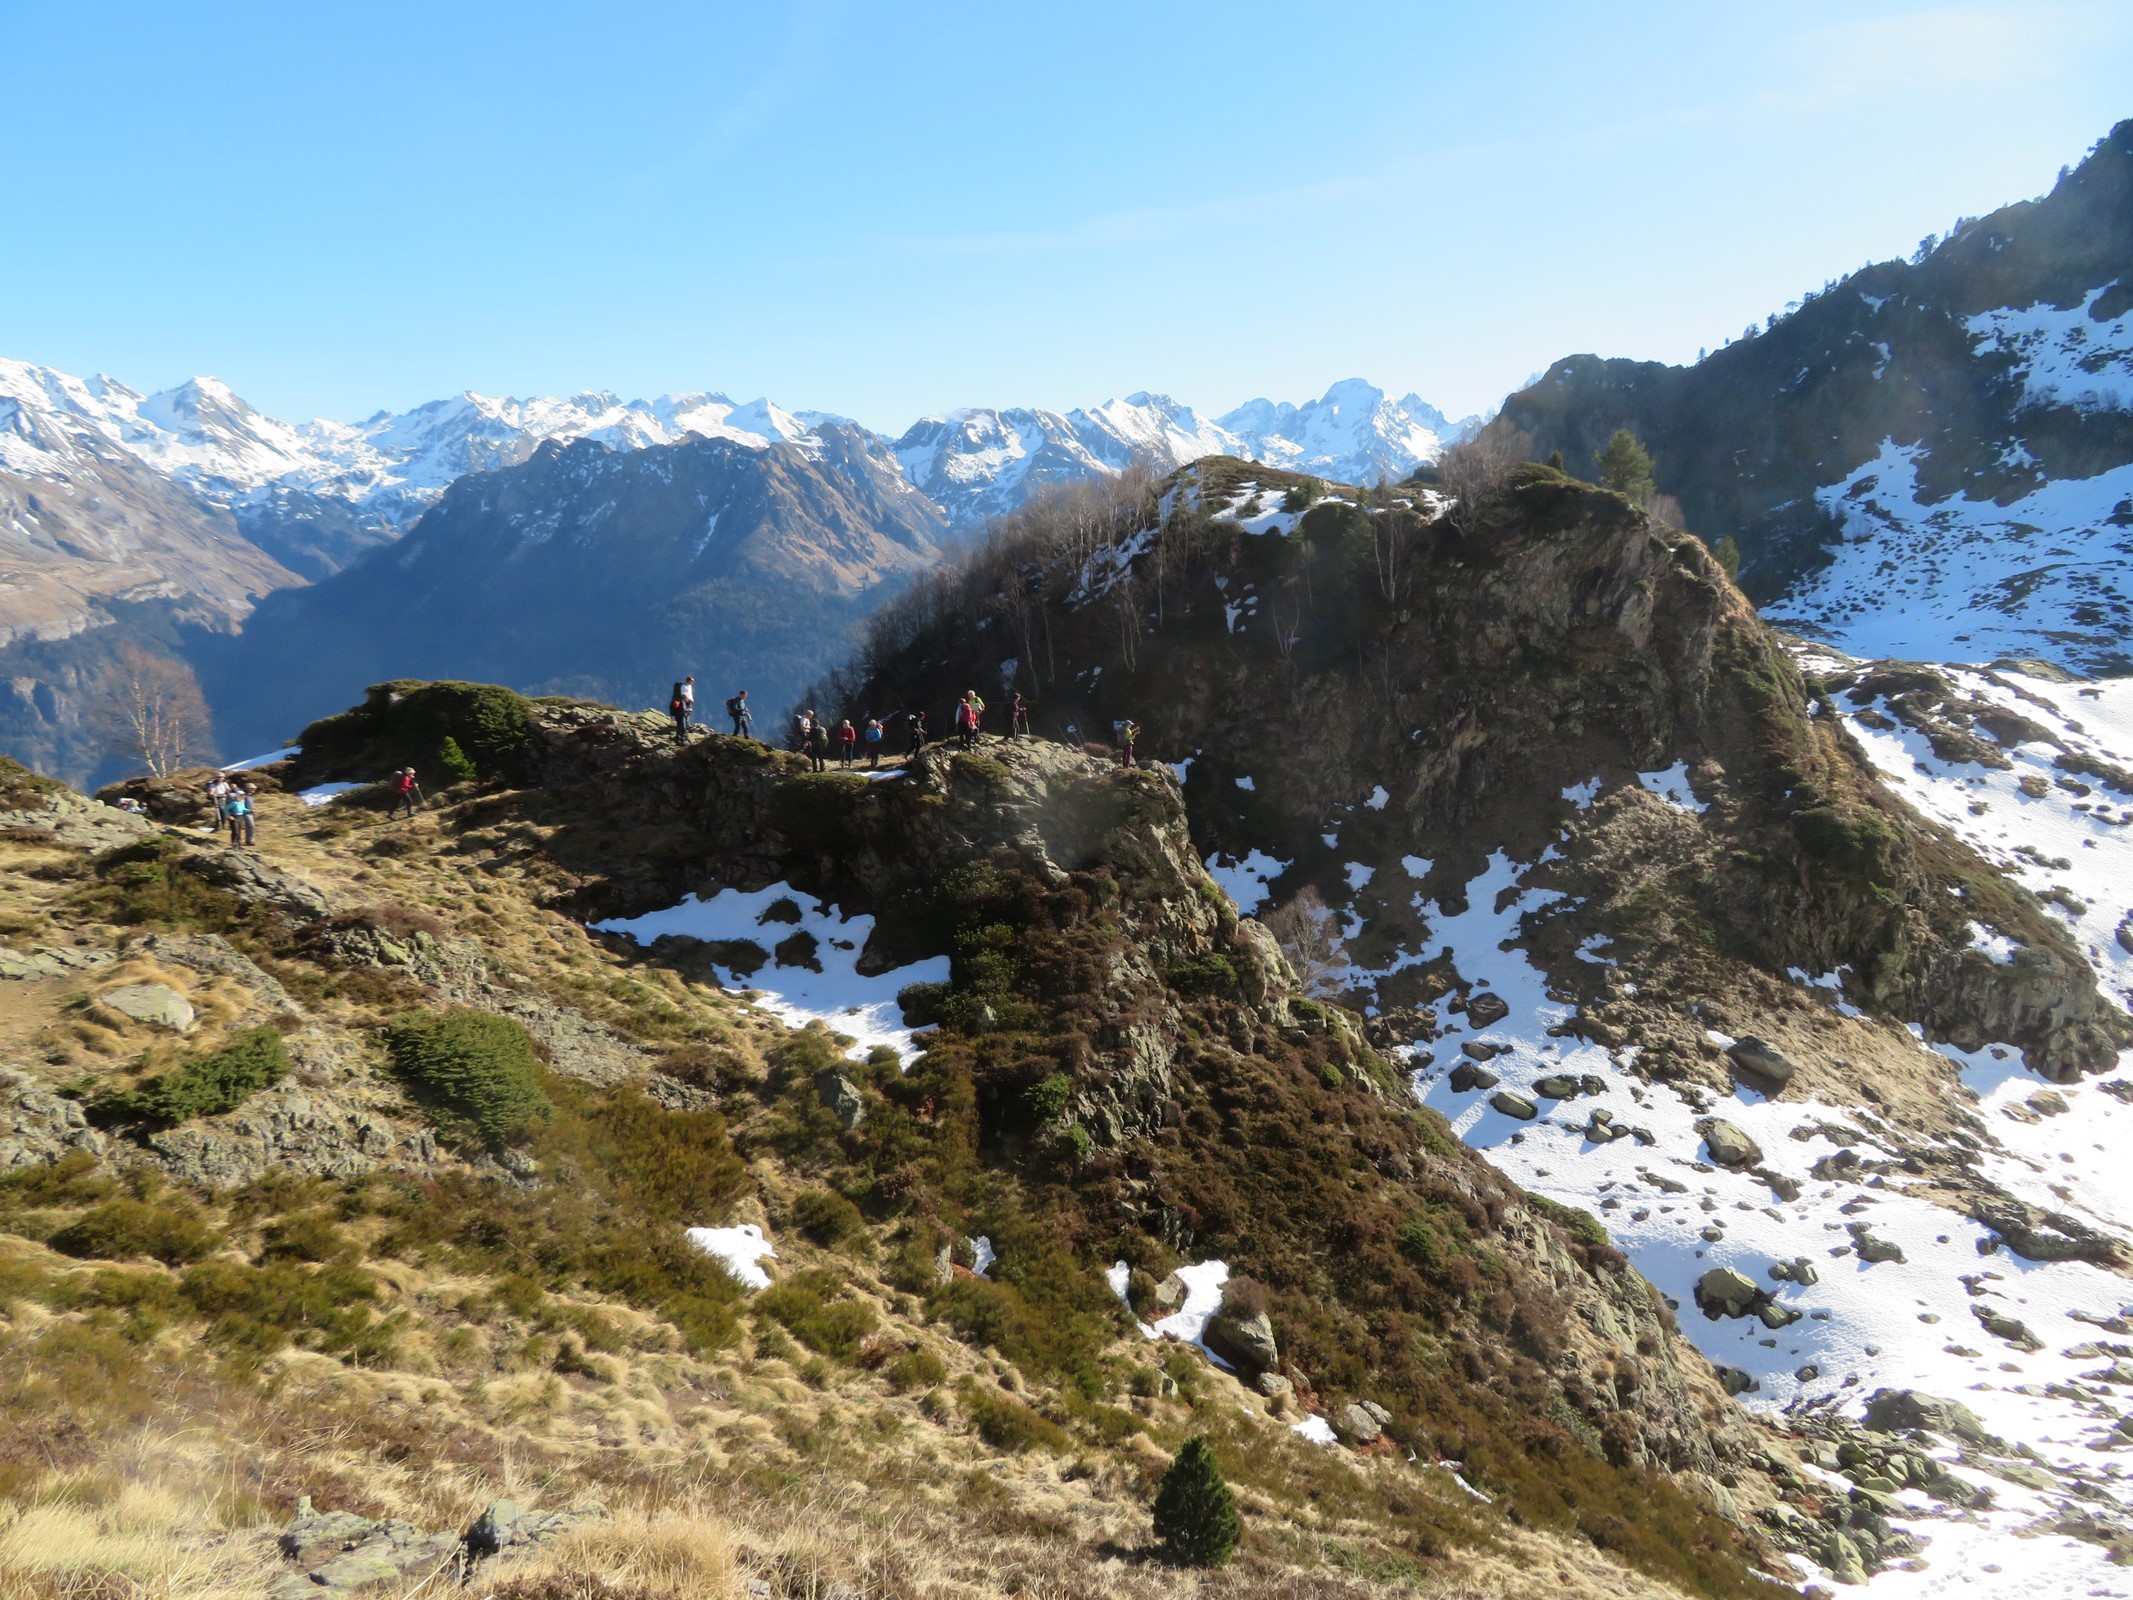
[(2133, 115), (2120, 0), (0, 0), (0, 354), (900, 431), (1691, 361)]

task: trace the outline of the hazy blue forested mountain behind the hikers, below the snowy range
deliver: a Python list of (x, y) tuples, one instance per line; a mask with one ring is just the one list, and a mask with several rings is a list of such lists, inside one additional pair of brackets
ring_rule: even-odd
[(461, 478), (395, 546), (260, 604), (196, 659), (226, 745), (264, 747), (346, 685), (478, 678), (665, 704), (693, 670), (783, 704), (881, 591), (930, 565), (939, 510), (862, 433), (616, 452), (542, 444)]

